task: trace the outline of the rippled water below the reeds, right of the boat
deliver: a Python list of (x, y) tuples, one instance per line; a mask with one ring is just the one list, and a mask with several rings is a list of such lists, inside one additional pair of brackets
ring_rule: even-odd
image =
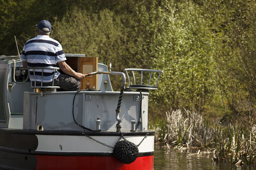
[(197, 155), (155, 145), (154, 170), (255, 170), (253, 166), (235, 166), (214, 163), (210, 155)]

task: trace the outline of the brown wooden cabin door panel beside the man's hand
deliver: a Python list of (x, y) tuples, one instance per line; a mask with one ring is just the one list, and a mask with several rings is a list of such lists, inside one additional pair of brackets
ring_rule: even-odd
[[(87, 74), (98, 69), (97, 57), (79, 57), (79, 72)], [(81, 89), (88, 89), (91, 87), (97, 89), (97, 75), (86, 76), (81, 80)]]

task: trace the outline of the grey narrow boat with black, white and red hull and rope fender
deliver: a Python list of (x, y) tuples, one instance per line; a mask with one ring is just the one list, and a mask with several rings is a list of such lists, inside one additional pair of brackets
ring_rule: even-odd
[(0, 57), (0, 170), (153, 170), (148, 95), (162, 71), (113, 72), (97, 58), (65, 56), (86, 75), (79, 91), (38, 86), (18, 56)]

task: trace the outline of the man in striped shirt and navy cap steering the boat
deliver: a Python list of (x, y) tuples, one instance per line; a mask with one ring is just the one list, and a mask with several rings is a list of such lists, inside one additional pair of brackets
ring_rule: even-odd
[[(66, 74), (56, 71), (54, 85), (60, 86), (66, 91), (77, 91), (81, 87), (81, 80), (84, 75), (75, 72), (66, 62), (62, 46), (59, 42), (49, 37), (51, 33), (51, 23), (42, 20), (37, 24), (37, 36), (28, 40), (23, 48), (21, 60), (23, 68), (29, 67), (56, 67), (58, 63), (60, 69)], [(33, 69), (30, 69), (30, 80), (34, 81)], [(36, 81), (41, 83), (42, 69), (36, 69)], [(44, 69), (43, 84), (52, 85), (54, 71)]]

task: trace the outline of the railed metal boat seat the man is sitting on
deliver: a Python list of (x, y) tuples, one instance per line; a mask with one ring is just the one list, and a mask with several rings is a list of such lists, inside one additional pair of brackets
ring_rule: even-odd
[[(56, 91), (56, 89), (59, 89), (60, 86), (54, 86), (54, 76), (55, 76), (55, 72), (57, 70), (59, 70), (60, 68), (55, 68), (55, 67), (52, 67), (52, 68), (45, 68), (45, 67), (29, 67), (29, 69), (33, 69), (33, 75), (34, 76), (34, 81), (31, 81), (31, 88), (35, 89), (35, 91), (44, 91), (44, 92), (53, 92), (53, 91)], [(42, 79), (41, 79), (41, 84), (38, 85), (38, 81), (36, 81), (36, 73), (35, 73), (35, 70), (38, 70), (38, 69), (41, 69), (41, 72), (42, 72)], [(53, 70), (54, 74), (53, 74), (53, 80), (52, 80), (52, 85), (44, 85), (43, 81), (44, 81), (44, 70), (46, 69), (50, 69), (50, 70)], [(31, 76), (31, 75), (30, 75)]]

